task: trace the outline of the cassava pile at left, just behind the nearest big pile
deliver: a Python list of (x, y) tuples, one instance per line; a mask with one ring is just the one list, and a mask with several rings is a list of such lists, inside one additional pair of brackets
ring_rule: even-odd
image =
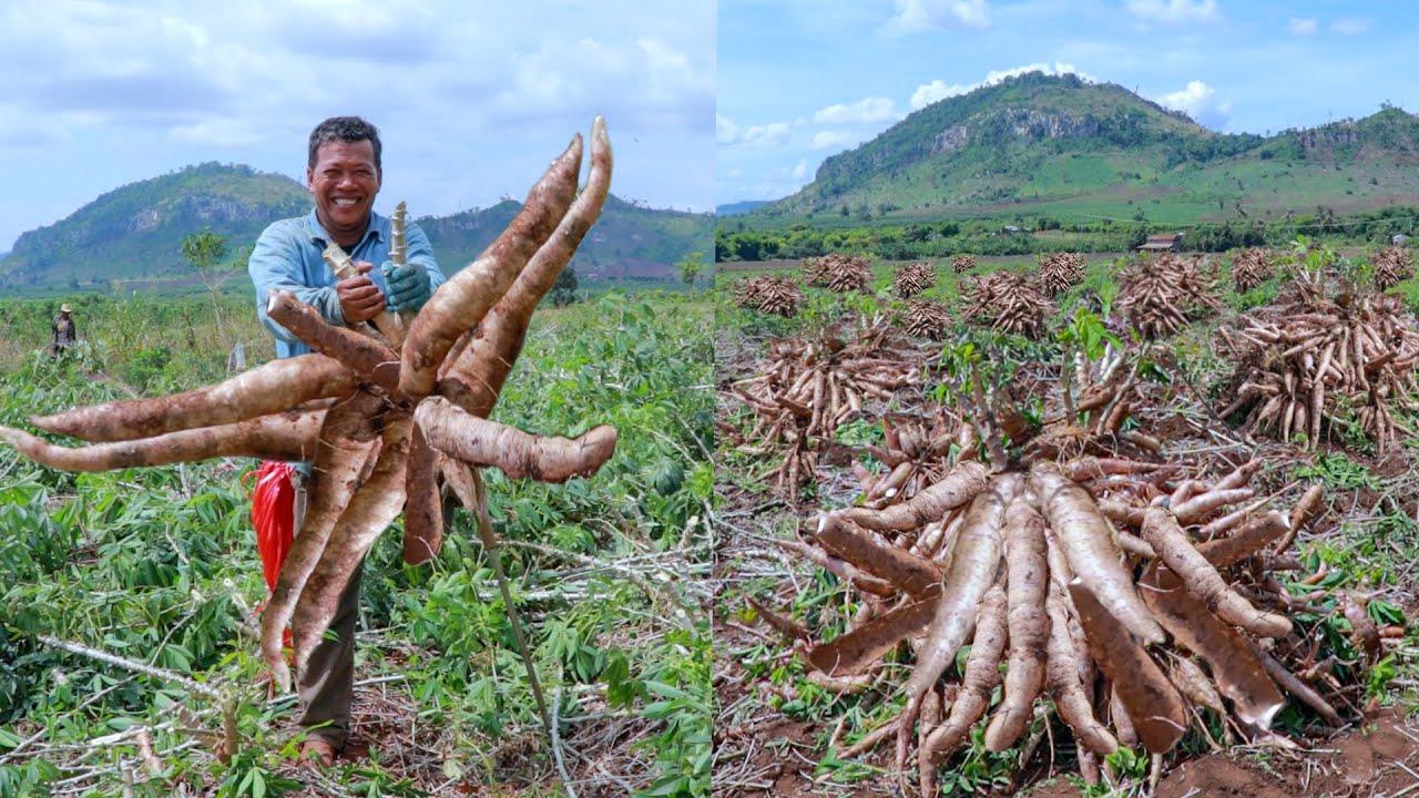
[(758, 376), (731, 383), (729, 390), (758, 416), (738, 447), (748, 454), (786, 450), (785, 459), (759, 474), (797, 501), (799, 487), (813, 479), (812, 439), (832, 440), (837, 426), (873, 399), (891, 400), (907, 388), (920, 390), (915, 349), (885, 325), (868, 327), (853, 342), (824, 331), (813, 339), (769, 342), (769, 359)]

